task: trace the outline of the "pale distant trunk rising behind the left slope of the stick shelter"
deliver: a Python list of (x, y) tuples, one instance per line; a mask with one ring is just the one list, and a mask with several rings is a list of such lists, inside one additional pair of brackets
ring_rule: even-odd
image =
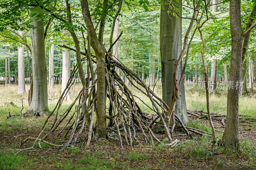
[[(65, 38), (68, 38), (68, 31), (64, 31)], [(70, 51), (67, 48), (62, 49), (62, 83), (61, 83), (61, 93), (64, 92), (68, 79), (70, 78)], [(66, 90), (67, 95), (65, 97), (66, 100), (70, 99), (70, 93)], [(65, 95), (64, 95), (65, 96)]]

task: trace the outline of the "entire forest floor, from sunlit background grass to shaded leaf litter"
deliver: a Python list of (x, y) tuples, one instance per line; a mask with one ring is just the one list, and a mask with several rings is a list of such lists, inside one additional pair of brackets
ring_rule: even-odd
[[(81, 85), (80, 85), (81, 88)], [(28, 86), (26, 86), (28, 89)], [(71, 92), (71, 101), (64, 103), (62, 111), (72, 102), (78, 92), (78, 85)], [(137, 96), (144, 98), (135, 89)], [(155, 89), (161, 96), (161, 86)], [(49, 92), (49, 109), (56, 104), (60, 95), (60, 85)], [(26, 137), (37, 137), (45, 121), (45, 117), (20, 117), (15, 116), (6, 119), (6, 116), (19, 114), (23, 100), (24, 112), (27, 109), (25, 99), (27, 94), (17, 95), (17, 86), (0, 86), (0, 169), (256, 169), (256, 123), (249, 122), (240, 125), (241, 149), (240, 152), (227, 152), (221, 147), (215, 150), (211, 146), (211, 138), (192, 134), (193, 138), (176, 137), (180, 140), (174, 147), (163, 144), (145, 144), (140, 133), (136, 137), (140, 145), (127, 146), (123, 141), (124, 148), (120, 148), (117, 138), (110, 139), (109, 144), (91, 141), (89, 147), (85, 147), (86, 140), (82, 135), (74, 148), (60, 152), (59, 148), (41, 143), (32, 151), (21, 152), (18, 156), (13, 154), (18, 151), (20, 141)], [(227, 91), (223, 90), (210, 96), (211, 112), (225, 114)], [(193, 110), (206, 110), (204, 92), (192, 89), (186, 91), (187, 108)], [(239, 114), (256, 116), (255, 96), (240, 97)], [(142, 106), (142, 103), (141, 107)], [(211, 128), (206, 120), (196, 119), (190, 116), (187, 126), (211, 133)], [(219, 121), (214, 121), (214, 127), (220, 127)], [(64, 124), (64, 123), (63, 123)], [(50, 127), (47, 127), (50, 128)], [(217, 128), (218, 129), (218, 128)], [(223, 129), (218, 129), (219, 131)], [(217, 136), (222, 133), (217, 131)], [(180, 133), (180, 132), (177, 132)], [(63, 140), (63, 134), (56, 137), (58, 131), (51, 134), (47, 141), (58, 142)], [(163, 134), (156, 134), (163, 139)], [(22, 148), (32, 146), (29, 140)]]

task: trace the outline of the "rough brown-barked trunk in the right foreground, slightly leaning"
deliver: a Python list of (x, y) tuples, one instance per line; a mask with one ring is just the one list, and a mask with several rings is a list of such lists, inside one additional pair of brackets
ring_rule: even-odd
[[(230, 62), (230, 75), (229, 80), (234, 82), (240, 81), (240, 74), (242, 70), (242, 26), (241, 26), (241, 10), (240, 0), (230, 0), (229, 16), (230, 16), (230, 31), (232, 40), (231, 49), (231, 62)], [(226, 127), (221, 138), (222, 144), (225, 148), (239, 147), (239, 117), (238, 117), (238, 100), (239, 100), (239, 87), (228, 89), (227, 99), (227, 120)]]

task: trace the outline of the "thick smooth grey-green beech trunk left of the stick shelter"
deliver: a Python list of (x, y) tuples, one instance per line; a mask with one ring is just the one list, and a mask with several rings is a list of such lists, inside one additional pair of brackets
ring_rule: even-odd
[[(32, 70), (33, 70), (33, 93), (28, 112), (36, 116), (49, 113), (47, 93), (47, 69), (44, 47), (44, 22), (40, 16), (33, 16), (30, 29)], [(40, 20), (39, 20), (40, 19)]]

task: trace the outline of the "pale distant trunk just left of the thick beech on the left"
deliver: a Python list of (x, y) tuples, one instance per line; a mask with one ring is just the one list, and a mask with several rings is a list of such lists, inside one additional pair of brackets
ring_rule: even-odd
[[(19, 31), (20, 36), (23, 36), (25, 31)], [(24, 60), (24, 47), (18, 49), (18, 93), (25, 93), (25, 60)]]

